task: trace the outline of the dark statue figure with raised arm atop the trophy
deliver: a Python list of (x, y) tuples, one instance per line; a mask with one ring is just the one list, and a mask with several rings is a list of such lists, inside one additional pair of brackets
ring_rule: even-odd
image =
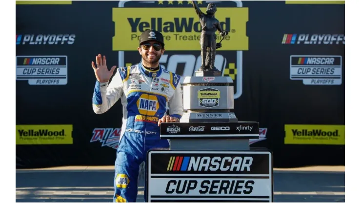
[(214, 61), (216, 58), (216, 49), (220, 48), (222, 44), (221, 42), (216, 43), (216, 31), (218, 30), (223, 38), (228, 35), (228, 31), (222, 29), (220, 21), (214, 16), (217, 11), (216, 4), (208, 4), (207, 14), (201, 12), (201, 9), (197, 5), (197, 1), (193, 0), (192, 4), (200, 18), (202, 28), (200, 40), (202, 64), (199, 71), (219, 71), (214, 66)]

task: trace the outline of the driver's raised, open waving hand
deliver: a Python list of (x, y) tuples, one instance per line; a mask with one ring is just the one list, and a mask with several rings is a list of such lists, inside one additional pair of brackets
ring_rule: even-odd
[(109, 81), (117, 66), (113, 66), (109, 71), (108, 68), (106, 67), (105, 56), (101, 58), (100, 54), (96, 57), (96, 61), (97, 61), (97, 67), (95, 67), (94, 61), (92, 61), (92, 67), (94, 69), (95, 77), (99, 82)]

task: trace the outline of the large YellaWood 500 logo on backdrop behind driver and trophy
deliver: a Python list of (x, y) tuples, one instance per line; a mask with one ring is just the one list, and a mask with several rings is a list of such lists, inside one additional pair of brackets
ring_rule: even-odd
[[(180, 82), (185, 76), (195, 76), (195, 71), (201, 67), (200, 20), (190, 1), (172, 2), (147, 1), (145, 5), (141, 1), (120, 1), (119, 8), (113, 8), (116, 33), (113, 50), (119, 51), (119, 67), (139, 62), (139, 52), (135, 47), (140, 34), (154, 29), (163, 34), (166, 47), (160, 66), (180, 75)], [(208, 2), (197, 3), (205, 12)], [(223, 39), (222, 48), (217, 50), (215, 67), (234, 81), (234, 99), (237, 99), (242, 94), (242, 51), (248, 50), (248, 8), (242, 8), (241, 1), (217, 1), (216, 4), (217, 19), (229, 34)], [(152, 33), (148, 37), (151, 38)], [(221, 39), (217, 35), (217, 42)], [(210, 106), (207, 103), (202, 105)]]

